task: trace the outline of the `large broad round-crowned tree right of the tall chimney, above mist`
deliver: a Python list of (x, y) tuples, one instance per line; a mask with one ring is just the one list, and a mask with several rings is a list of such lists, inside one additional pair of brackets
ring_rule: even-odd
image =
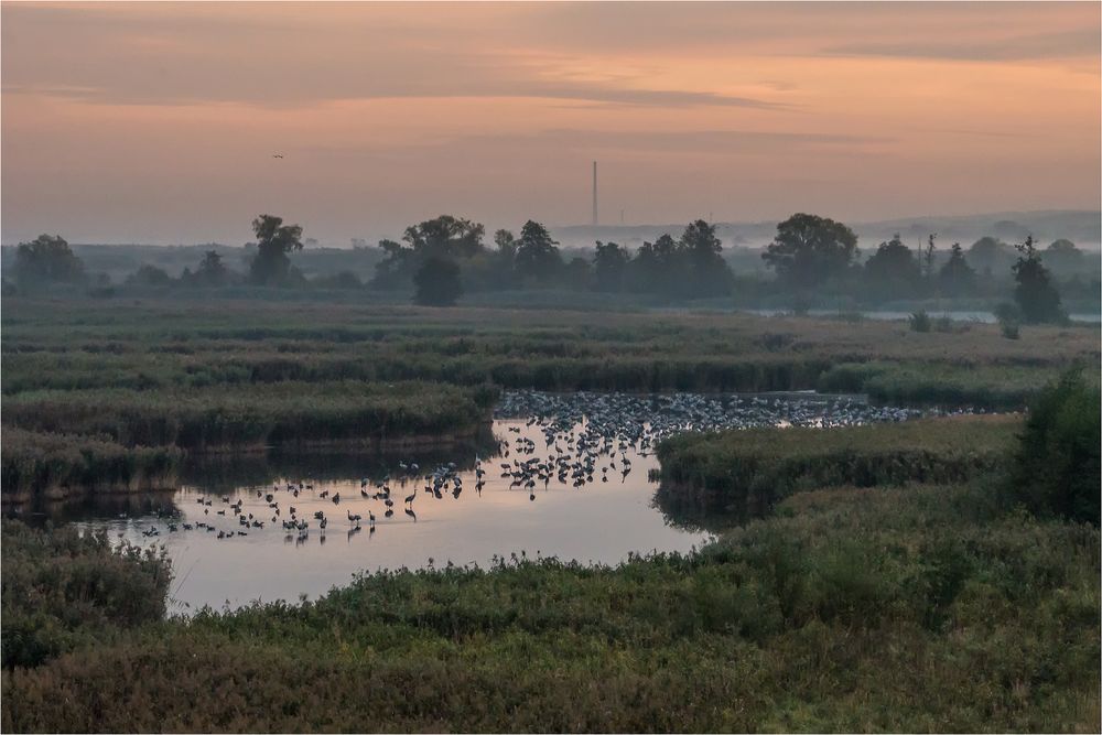
[(853, 230), (833, 219), (801, 213), (777, 225), (777, 235), (761, 259), (781, 281), (810, 287), (845, 272), (856, 255)]

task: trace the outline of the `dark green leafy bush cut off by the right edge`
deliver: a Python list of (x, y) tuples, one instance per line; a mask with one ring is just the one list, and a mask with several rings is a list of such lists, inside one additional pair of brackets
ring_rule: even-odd
[(1098, 387), (1069, 371), (1033, 402), (1009, 482), (1009, 495), (1041, 516), (1099, 525)]

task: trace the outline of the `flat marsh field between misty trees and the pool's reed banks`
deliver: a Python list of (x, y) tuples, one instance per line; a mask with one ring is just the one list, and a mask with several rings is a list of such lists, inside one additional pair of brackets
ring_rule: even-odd
[[(41, 388), (168, 388), (298, 380), (493, 382), (544, 390), (876, 388), (885, 400), (1020, 403), (1076, 360), (1099, 365), (1098, 329), (749, 315), (280, 304), (3, 302), (7, 394)], [(839, 366), (876, 361), (879, 369)], [(903, 385), (880, 387), (886, 367)], [(900, 371), (899, 366), (908, 370)], [(979, 389), (946, 393), (930, 372)], [(832, 368), (836, 368), (832, 374)], [(988, 375), (984, 370), (996, 370)], [(1013, 393), (1001, 393), (1008, 372)], [(1090, 371), (1090, 370), (1089, 370)], [(880, 382), (877, 382), (880, 381)]]

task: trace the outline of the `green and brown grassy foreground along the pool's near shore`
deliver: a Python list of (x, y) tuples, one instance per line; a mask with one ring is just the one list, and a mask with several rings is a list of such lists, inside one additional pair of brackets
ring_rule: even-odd
[(691, 556), (399, 572), (147, 626), (9, 671), (2, 724), (1096, 728), (1094, 527), (996, 512), (980, 485), (797, 494), (780, 511)]

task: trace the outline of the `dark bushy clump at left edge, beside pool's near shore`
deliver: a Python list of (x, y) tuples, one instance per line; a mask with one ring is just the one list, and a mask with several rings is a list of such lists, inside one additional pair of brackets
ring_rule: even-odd
[(34, 667), (164, 617), (166, 558), (106, 532), (3, 521), (3, 667)]

